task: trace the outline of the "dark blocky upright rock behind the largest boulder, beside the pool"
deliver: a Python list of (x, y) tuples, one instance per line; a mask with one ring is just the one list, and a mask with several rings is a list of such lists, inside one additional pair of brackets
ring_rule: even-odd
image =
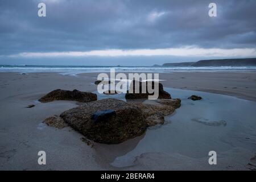
[[(135, 84), (136, 84), (136, 82), (139, 82), (139, 93), (135, 93)], [(125, 94), (125, 98), (126, 99), (139, 99), (139, 98), (148, 98), (148, 96), (154, 95), (154, 93), (152, 93), (152, 94), (148, 93), (148, 90), (147, 90), (147, 85), (148, 84), (151, 84), (150, 87), (152, 89), (155, 88), (154, 81), (152, 81), (152, 82), (146, 81), (146, 93), (142, 93), (143, 82), (133, 80), (133, 82), (130, 85), (129, 90), (127, 90), (127, 93)], [(159, 90), (158, 98), (165, 98), (165, 99), (168, 98), (168, 99), (171, 99), (171, 95), (168, 92), (163, 90), (163, 84), (159, 83), (158, 86), (159, 86), (159, 88), (158, 88), (158, 90)]]

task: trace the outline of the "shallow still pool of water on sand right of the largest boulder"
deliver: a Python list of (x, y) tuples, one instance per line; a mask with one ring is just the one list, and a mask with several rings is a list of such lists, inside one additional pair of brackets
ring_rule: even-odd
[[(115, 158), (112, 166), (133, 166), (136, 156), (147, 152), (203, 158), (209, 151), (218, 154), (234, 147), (256, 151), (256, 102), (191, 90), (164, 90), (172, 98), (181, 98), (181, 107), (165, 118), (164, 125), (148, 128), (137, 146)], [(192, 94), (203, 100), (189, 100)], [(109, 97), (125, 100), (125, 94), (98, 94), (99, 99)]]

